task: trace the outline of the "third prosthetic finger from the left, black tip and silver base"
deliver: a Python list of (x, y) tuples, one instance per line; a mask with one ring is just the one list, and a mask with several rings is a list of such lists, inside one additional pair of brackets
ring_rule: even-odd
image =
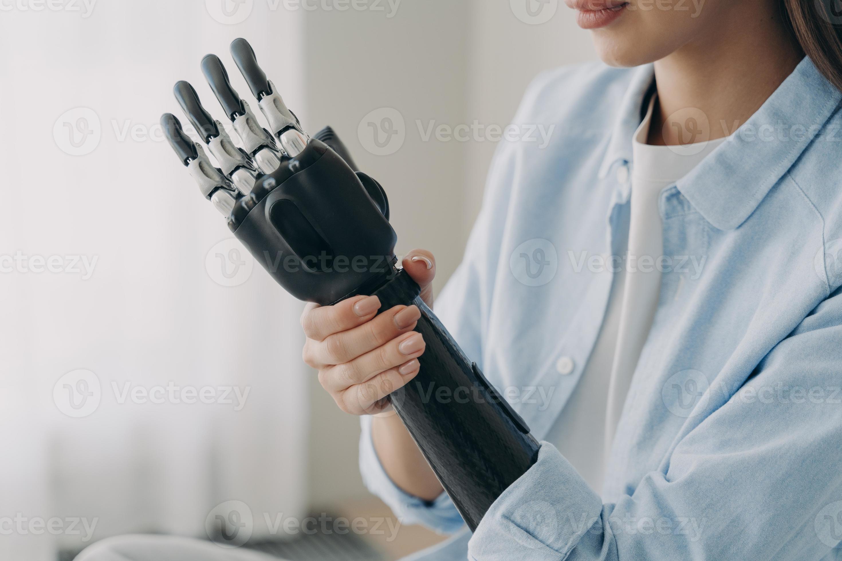
[(282, 155), (272, 135), (260, 125), (248, 103), (231, 86), (222, 61), (216, 55), (207, 55), (202, 59), (201, 66), (210, 89), (234, 124), (243, 149), (253, 157), (261, 171), (274, 172), (280, 166)]

